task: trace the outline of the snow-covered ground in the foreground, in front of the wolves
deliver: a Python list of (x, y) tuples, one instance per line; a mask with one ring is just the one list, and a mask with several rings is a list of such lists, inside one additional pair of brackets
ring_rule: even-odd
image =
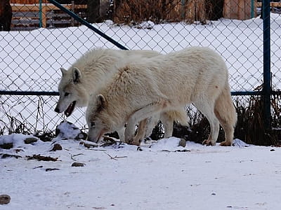
[[(86, 148), (80, 143), (87, 141), (25, 138), (0, 137), (0, 144), (15, 144), (0, 154), (22, 157), (0, 158), (0, 195), (11, 197), (0, 209), (280, 209), (281, 148), (238, 139), (232, 147), (188, 141), (183, 148), (174, 137), (141, 149)], [(63, 150), (51, 151), (54, 144)], [(39, 154), (58, 159), (25, 158)]]

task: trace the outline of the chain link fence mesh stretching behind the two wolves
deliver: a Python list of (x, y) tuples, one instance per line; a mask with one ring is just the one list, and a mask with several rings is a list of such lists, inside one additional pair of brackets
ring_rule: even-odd
[[(150, 17), (145, 20), (141, 15), (138, 16), (139, 19), (132, 20), (130, 11), (133, 14), (141, 14), (157, 9), (152, 8), (154, 5), (150, 1), (140, 1), (145, 3), (139, 4), (143, 10), (137, 10), (137, 4), (129, 5), (129, 2), (134, 1), (123, 1), (123, 4), (117, 0), (107, 1), (105, 15), (96, 17), (99, 23), (93, 23), (93, 27), (131, 50), (157, 50), (166, 54), (192, 45), (213, 48), (226, 61), (233, 93), (247, 94), (261, 90), (263, 85), (263, 20), (259, 16), (261, 3), (251, 0), (217, 1), (224, 2), (217, 6), (216, 10), (221, 13), (219, 15), (214, 11), (216, 1), (169, 1), (170, 4), (166, 5), (167, 8), (169, 6), (169, 10), (165, 8), (161, 10), (160, 18), (155, 18), (152, 15), (155, 13), (150, 11)], [(210, 4), (213, 7), (209, 16), (208, 2), (213, 2)], [(60, 3), (64, 3), (65, 8), (72, 10), (83, 20), (90, 20), (87, 1), (60, 1)], [(200, 3), (205, 4), (202, 6)], [(20, 132), (54, 130), (60, 121), (65, 120), (65, 116), (53, 111), (58, 101), (60, 67), (67, 69), (89, 49), (99, 47), (117, 49), (117, 47), (92, 29), (80, 25), (70, 15), (58, 10), (48, 1), (43, 1), (42, 4), (37, 1), (28, 5), (15, 1), (11, 3), (11, 8), (13, 10), (11, 31), (0, 31), (1, 133), (6, 134), (15, 130)], [(274, 90), (279, 90), (281, 83), (279, 9), (278, 4), (270, 13), (270, 68)], [(99, 11), (101, 14), (101, 9)], [(210, 16), (212, 18), (209, 18)], [(79, 127), (85, 127), (84, 109), (75, 111), (67, 120)]]

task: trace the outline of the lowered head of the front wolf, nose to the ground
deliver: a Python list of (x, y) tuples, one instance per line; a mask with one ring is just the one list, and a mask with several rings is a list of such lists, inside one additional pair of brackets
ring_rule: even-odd
[(86, 109), (89, 127), (88, 141), (98, 142), (103, 134), (118, 130), (107, 111), (107, 100), (102, 94), (92, 96)]

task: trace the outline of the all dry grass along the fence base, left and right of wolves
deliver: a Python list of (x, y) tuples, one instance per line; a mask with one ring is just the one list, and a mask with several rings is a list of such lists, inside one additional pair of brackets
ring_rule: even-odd
[[(244, 96), (235, 97), (235, 108), (237, 111), (237, 125), (235, 127), (235, 138), (245, 141), (247, 144), (255, 145), (278, 145), (281, 139), (281, 96), (273, 95), (271, 97), (271, 126), (272, 130), (266, 130), (263, 124), (263, 99), (261, 96)], [(39, 99), (37, 104), (37, 120), (44, 119), (44, 102)], [(37, 124), (30, 125), (26, 119), (22, 118), (20, 113), (18, 117), (13, 116), (9, 109), (4, 110), (3, 116), (6, 120), (0, 119), (0, 135), (3, 134), (34, 134), (42, 141), (51, 141), (55, 137), (55, 132), (48, 130), (48, 125), (44, 125), (44, 130), (38, 130)], [(202, 143), (207, 139), (210, 128), (209, 122), (201, 113), (195, 109), (188, 109), (190, 117), (190, 128), (174, 125), (174, 137), (180, 137), (189, 141)], [(7, 120), (8, 119), (8, 120)], [(115, 133), (116, 134), (116, 133)], [(117, 137), (117, 135), (116, 135)], [(164, 128), (161, 123), (152, 132), (152, 139), (160, 139), (164, 137)], [(221, 129), (218, 136), (218, 142), (224, 140), (224, 133)]]

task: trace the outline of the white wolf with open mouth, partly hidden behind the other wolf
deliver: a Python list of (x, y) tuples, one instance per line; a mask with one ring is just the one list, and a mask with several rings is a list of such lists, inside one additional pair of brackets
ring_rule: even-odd
[[(157, 55), (160, 55), (159, 52), (152, 50), (111, 50), (102, 48), (89, 50), (77, 59), (68, 70), (60, 69), (63, 76), (58, 85), (60, 98), (55, 111), (57, 113), (64, 111), (65, 116), (70, 116), (75, 107), (87, 106), (90, 94), (102, 90), (115, 76), (118, 71), (117, 63), (126, 62), (128, 59), (134, 61), (141, 57), (148, 58)], [(144, 137), (145, 128), (148, 132), (151, 132), (159, 118), (164, 124), (165, 137), (171, 136), (174, 121), (178, 121), (181, 125), (188, 124), (185, 109), (168, 111), (154, 117), (150, 120), (150, 125), (148, 126), (144, 122), (141, 123), (140, 125), (145, 126), (139, 129), (138, 137), (141, 139)], [(119, 132), (119, 137), (122, 139), (122, 132)]]

